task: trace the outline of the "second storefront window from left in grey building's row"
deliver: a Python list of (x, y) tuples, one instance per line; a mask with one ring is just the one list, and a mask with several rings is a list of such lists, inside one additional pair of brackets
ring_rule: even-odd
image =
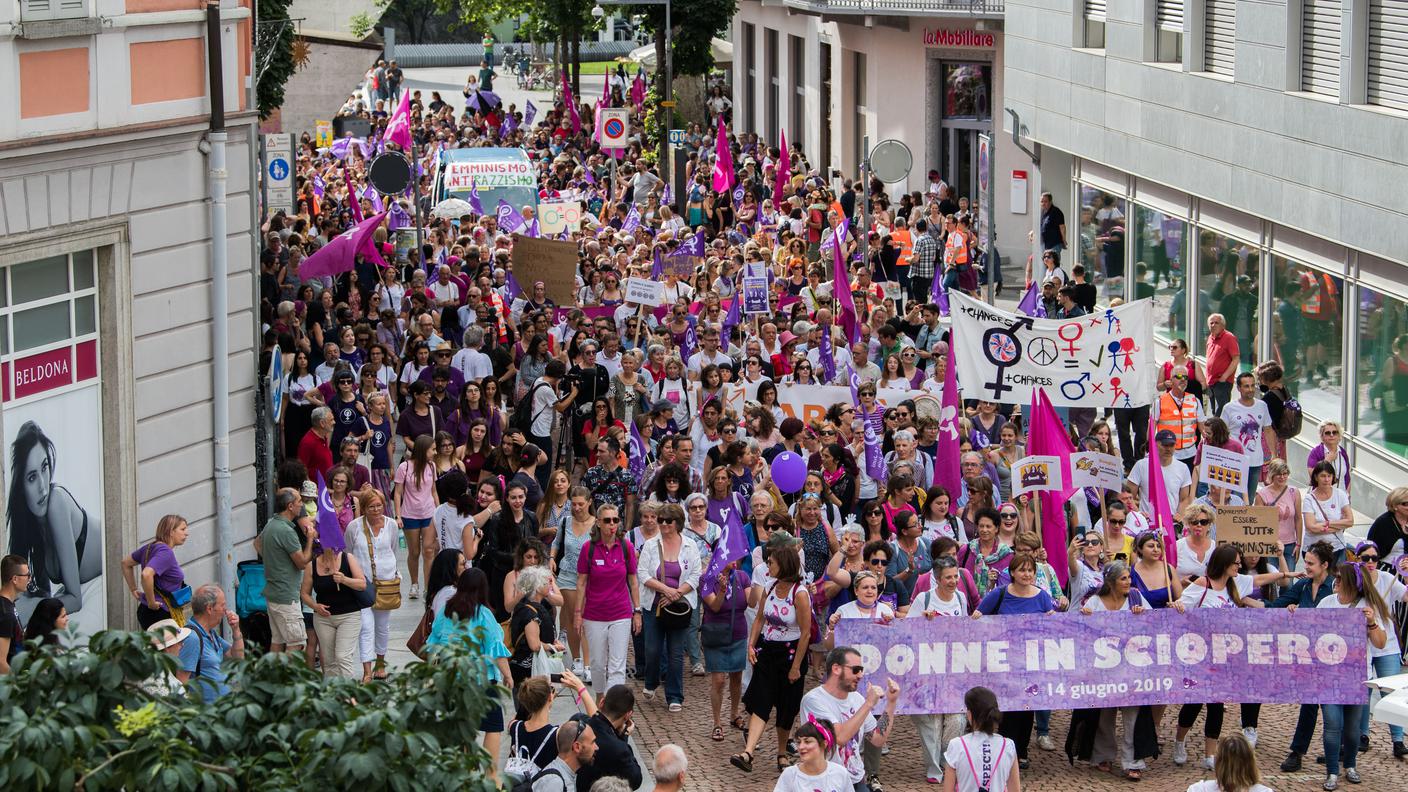
[(1164, 338), (1188, 338), (1187, 235), (1183, 220), (1135, 206), (1133, 296), (1153, 297), (1155, 333)]

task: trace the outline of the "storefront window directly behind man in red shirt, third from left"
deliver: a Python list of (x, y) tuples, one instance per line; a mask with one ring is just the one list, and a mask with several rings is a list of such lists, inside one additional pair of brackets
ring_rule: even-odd
[(1257, 355), (1257, 295), (1262, 254), (1250, 242), (1198, 231), (1198, 326), (1191, 328), (1194, 354), (1201, 354), (1208, 334), (1208, 317), (1222, 314), (1228, 331), (1236, 335), (1242, 352), (1240, 371), (1252, 371)]

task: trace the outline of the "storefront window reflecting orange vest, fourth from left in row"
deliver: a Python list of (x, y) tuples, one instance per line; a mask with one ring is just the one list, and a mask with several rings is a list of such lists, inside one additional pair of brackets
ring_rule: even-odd
[(1286, 388), (1316, 419), (1339, 419), (1343, 397), (1345, 282), (1304, 264), (1271, 259), (1276, 318), (1271, 344)]

